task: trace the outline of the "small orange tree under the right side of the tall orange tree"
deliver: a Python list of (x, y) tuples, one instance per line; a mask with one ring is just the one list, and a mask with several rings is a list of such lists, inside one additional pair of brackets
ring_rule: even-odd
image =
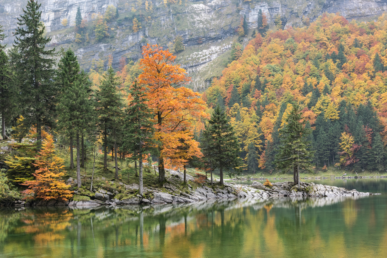
[(162, 155), (168, 157), (166, 164), (184, 169), (184, 183), (187, 183), (186, 169), (188, 163), (194, 158), (203, 156), (199, 148), (199, 142), (194, 140), (193, 133), (190, 130), (182, 130), (172, 133), (166, 133), (164, 142), (168, 142), (162, 150)]

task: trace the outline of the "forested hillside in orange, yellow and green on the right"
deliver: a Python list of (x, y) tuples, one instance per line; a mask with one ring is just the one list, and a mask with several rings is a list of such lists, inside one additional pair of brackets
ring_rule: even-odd
[(293, 103), (313, 129), (316, 169), (382, 170), (387, 144), (387, 15), (348, 22), (323, 14), (303, 28), (257, 34), (202, 96), (227, 110), (245, 169), (274, 171)]

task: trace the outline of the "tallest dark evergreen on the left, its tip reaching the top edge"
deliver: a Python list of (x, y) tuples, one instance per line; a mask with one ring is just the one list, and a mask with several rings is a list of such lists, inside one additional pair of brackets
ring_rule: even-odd
[(12, 51), (12, 65), (20, 87), (20, 102), (29, 124), (36, 125), (39, 150), (41, 127), (53, 126), (57, 87), (53, 84), (55, 74), (55, 48), (46, 50), (51, 38), (43, 36), (45, 26), (39, 11), (41, 4), (29, 0), (23, 15), (17, 18), (17, 29)]

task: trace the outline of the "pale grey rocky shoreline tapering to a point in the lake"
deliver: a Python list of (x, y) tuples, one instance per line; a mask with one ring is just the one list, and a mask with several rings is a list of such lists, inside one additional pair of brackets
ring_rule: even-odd
[(315, 183), (304, 183), (300, 189), (291, 181), (281, 183), (271, 183), (271, 186), (265, 186), (262, 183), (254, 181), (252, 185), (239, 185), (234, 182), (225, 182), (224, 186), (209, 185), (209, 180), (205, 184), (194, 183), (195, 178), (187, 175), (188, 185), (182, 188), (183, 173), (179, 171), (169, 171), (162, 188), (144, 188), (144, 195), (140, 196), (135, 192), (138, 190), (137, 184), (122, 184), (127, 195), (118, 200), (115, 198), (117, 193), (110, 193), (104, 189), (95, 189), (94, 200), (58, 202), (58, 201), (39, 201), (23, 202), (16, 201), (12, 206), (69, 206), (69, 207), (96, 207), (100, 205), (134, 205), (134, 204), (163, 204), (163, 203), (193, 203), (211, 199), (221, 198), (278, 198), (278, 197), (335, 197), (335, 196), (360, 196), (372, 195), (373, 193), (363, 193), (357, 190), (346, 190), (336, 186), (318, 185)]

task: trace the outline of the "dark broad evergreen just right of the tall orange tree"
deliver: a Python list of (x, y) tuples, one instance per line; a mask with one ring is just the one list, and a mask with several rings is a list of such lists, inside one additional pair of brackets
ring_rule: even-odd
[[(235, 136), (233, 127), (230, 125), (226, 113), (216, 106), (211, 114), (211, 119), (205, 125), (203, 132), (203, 155), (212, 164), (212, 169), (219, 168), (220, 181), (223, 185), (223, 169), (240, 171), (242, 160), (239, 157), (240, 146), (238, 138)], [(229, 172), (229, 174), (232, 174)]]

